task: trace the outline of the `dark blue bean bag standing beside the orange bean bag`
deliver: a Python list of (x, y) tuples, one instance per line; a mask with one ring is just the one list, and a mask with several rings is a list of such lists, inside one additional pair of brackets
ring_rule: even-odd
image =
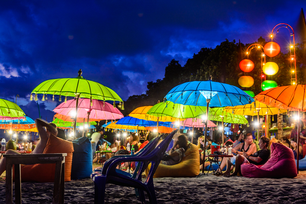
[(87, 137), (73, 140), (73, 155), (71, 166), (71, 179), (90, 178), (92, 173), (92, 148)]

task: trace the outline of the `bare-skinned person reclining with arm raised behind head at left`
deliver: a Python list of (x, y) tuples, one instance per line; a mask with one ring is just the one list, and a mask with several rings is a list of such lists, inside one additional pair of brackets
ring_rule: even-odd
[[(43, 154), (48, 139), (50, 135), (54, 135), (55, 137), (58, 134), (56, 124), (54, 123), (48, 123), (47, 121), (44, 121), (42, 119), (37, 118), (35, 120), (36, 127), (39, 134), (39, 142), (37, 143), (36, 147), (30, 154)], [(44, 129), (46, 128), (46, 130)], [(5, 154), (20, 154), (14, 150), (7, 150)], [(6, 170), (6, 158), (2, 158), (0, 161), (0, 175)]]

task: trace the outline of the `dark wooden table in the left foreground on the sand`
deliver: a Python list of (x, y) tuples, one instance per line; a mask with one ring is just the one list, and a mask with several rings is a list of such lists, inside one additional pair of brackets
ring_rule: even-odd
[[(67, 154), (3, 154), (6, 158), (6, 204), (13, 203), (13, 165), (15, 166), (15, 203), (21, 204), (21, 164), (54, 164), (52, 203), (64, 203), (65, 156)], [(33, 175), (35, 176), (35, 175)]]

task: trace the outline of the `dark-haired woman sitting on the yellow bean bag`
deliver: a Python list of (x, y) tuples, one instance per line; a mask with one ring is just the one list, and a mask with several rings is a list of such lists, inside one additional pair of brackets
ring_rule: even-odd
[(171, 157), (167, 161), (161, 161), (164, 165), (175, 165), (181, 161), (181, 158), (185, 157), (185, 152), (188, 146), (188, 139), (185, 135), (179, 135), (174, 139), (173, 147), (169, 150), (169, 156)]

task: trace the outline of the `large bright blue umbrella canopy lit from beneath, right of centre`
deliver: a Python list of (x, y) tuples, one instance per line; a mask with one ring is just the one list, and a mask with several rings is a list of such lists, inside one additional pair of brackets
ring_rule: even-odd
[(211, 107), (238, 106), (254, 101), (238, 87), (211, 80), (183, 83), (171, 89), (166, 98), (176, 104), (205, 107), (206, 99), (211, 99)]

